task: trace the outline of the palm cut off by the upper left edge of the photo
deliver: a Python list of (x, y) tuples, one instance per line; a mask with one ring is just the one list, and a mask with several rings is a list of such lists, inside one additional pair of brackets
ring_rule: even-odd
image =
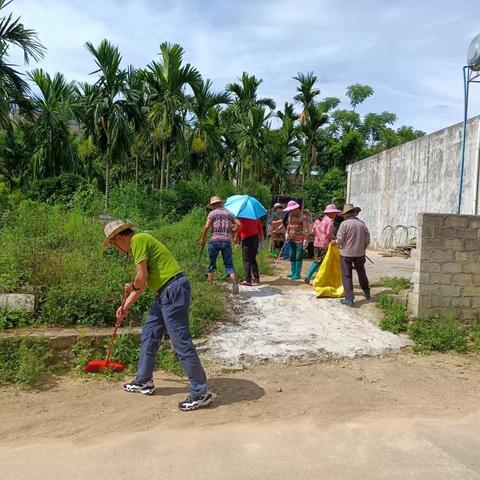
[[(0, 0), (0, 11), (4, 10), (12, 0)], [(27, 29), (20, 22), (20, 17), (14, 19), (12, 14), (0, 18), (0, 127), (9, 128), (10, 113), (13, 105), (23, 105), (29, 91), (23, 75), (9, 63), (10, 47), (23, 51), (24, 62), (40, 60), (45, 53), (45, 47), (38, 40), (34, 30)]]

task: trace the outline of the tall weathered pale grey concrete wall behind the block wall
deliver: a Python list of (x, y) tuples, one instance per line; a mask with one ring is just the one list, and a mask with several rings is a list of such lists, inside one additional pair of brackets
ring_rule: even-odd
[[(418, 226), (418, 214), (456, 213), (462, 124), (418, 138), (348, 167), (347, 201), (362, 208), (372, 243), (387, 225)], [(469, 120), (463, 214), (477, 214), (480, 116)]]

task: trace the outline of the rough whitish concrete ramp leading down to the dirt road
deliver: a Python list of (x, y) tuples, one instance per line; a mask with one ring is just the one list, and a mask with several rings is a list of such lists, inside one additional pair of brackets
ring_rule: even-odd
[(313, 290), (243, 287), (243, 313), (211, 336), (209, 356), (227, 365), (290, 359), (382, 355), (412, 342), (384, 332), (361, 309), (339, 299), (316, 298)]

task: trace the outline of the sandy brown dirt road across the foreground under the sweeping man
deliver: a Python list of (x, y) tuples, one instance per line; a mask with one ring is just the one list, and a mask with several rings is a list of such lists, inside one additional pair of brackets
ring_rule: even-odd
[(187, 382), (162, 371), (152, 397), (91, 378), (1, 389), (0, 478), (480, 479), (478, 356), (207, 372), (216, 401), (189, 413)]

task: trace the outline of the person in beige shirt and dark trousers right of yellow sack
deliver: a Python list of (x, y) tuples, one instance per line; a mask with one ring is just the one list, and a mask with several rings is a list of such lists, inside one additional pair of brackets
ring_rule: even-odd
[(353, 266), (358, 275), (358, 282), (367, 300), (370, 300), (370, 284), (365, 272), (365, 251), (370, 244), (370, 233), (367, 226), (357, 218), (360, 208), (347, 203), (340, 214), (344, 218), (337, 232), (337, 239), (332, 243), (340, 246), (340, 258), (342, 265), (342, 283), (345, 290), (345, 298), (340, 300), (344, 305), (352, 306), (353, 293)]

